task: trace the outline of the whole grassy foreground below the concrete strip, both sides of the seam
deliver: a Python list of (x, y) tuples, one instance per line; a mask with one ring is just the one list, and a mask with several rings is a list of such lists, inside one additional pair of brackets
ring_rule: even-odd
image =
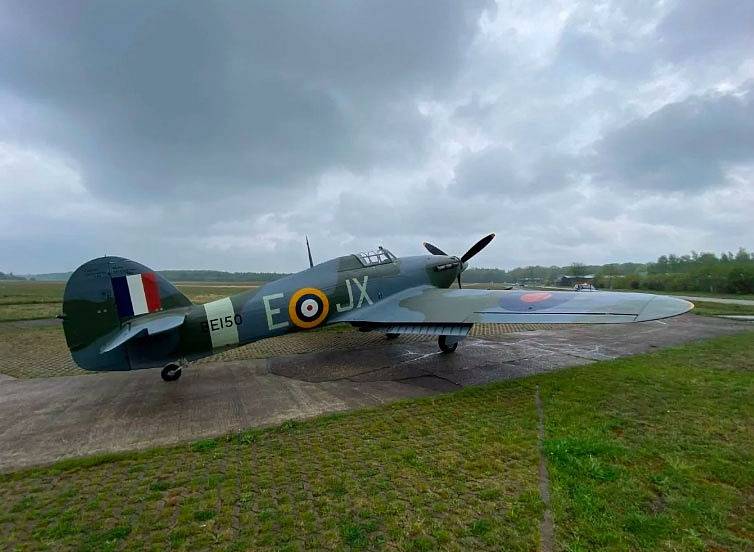
[(754, 333), (0, 476), (0, 549), (754, 546)]

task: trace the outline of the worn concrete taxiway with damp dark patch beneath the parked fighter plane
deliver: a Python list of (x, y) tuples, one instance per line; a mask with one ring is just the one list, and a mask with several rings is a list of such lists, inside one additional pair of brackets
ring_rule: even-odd
[(2, 379), (0, 471), (426, 396), (748, 328), (688, 314), (469, 338), (452, 355), (439, 354), (434, 340), (399, 338), (355, 350), (213, 362), (187, 368), (174, 383), (158, 370)]

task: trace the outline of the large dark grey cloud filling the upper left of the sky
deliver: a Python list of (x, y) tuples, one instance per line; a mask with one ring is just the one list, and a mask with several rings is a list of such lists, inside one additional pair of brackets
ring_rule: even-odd
[(416, 99), (454, 78), (485, 4), (197, 7), (6, 5), (0, 90), (64, 126), (29, 121), (43, 135), (28, 139), (56, 135), (88, 187), (131, 198), (415, 163), (428, 130)]

